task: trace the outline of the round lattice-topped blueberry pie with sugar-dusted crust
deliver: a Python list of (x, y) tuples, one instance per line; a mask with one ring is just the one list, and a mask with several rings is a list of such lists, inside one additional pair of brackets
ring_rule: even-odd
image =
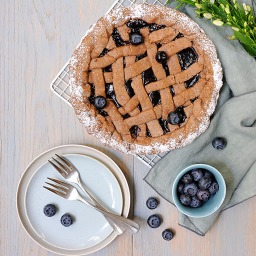
[(87, 131), (126, 153), (185, 146), (204, 132), (222, 85), (213, 43), (186, 15), (141, 4), (101, 18), (70, 62)]

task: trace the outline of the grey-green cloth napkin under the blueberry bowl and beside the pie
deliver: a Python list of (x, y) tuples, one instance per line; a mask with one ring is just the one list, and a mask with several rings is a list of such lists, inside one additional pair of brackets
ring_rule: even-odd
[[(227, 186), (221, 208), (205, 218), (190, 218), (179, 213), (179, 224), (199, 235), (213, 225), (222, 210), (256, 195), (256, 61), (238, 41), (228, 36), (228, 27), (216, 27), (199, 19), (191, 7), (182, 10), (205, 31), (217, 48), (224, 71), (224, 85), (214, 117), (207, 131), (184, 148), (168, 153), (154, 166), (145, 181), (162, 197), (173, 203), (172, 184), (186, 166), (205, 163), (218, 169)], [(215, 137), (225, 137), (224, 150), (212, 147)]]

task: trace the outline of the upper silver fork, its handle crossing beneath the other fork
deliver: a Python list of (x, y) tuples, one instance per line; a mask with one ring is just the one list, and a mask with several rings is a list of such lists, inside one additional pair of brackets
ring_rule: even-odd
[[(80, 179), (80, 174), (79, 174), (78, 170), (76, 169), (76, 167), (72, 163), (70, 163), (65, 157), (59, 156), (57, 154), (55, 154), (55, 155), (58, 159), (52, 158), (52, 161), (49, 160), (49, 163), (66, 180), (77, 184), (81, 188), (81, 190), (89, 197), (89, 199), (95, 206), (99, 207), (100, 209), (102, 209), (104, 211), (109, 211), (102, 204), (100, 204), (100, 202), (98, 202), (97, 199), (95, 199), (95, 197), (90, 193), (88, 188), (86, 188), (85, 185), (82, 184), (81, 179)], [(57, 164), (55, 164), (55, 162)], [(110, 219), (108, 217), (106, 217), (106, 219), (109, 222), (109, 224), (113, 227), (113, 229), (115, 231), (117, 231), (119, 234), (122, 234), (127, 229), (127, 227), (125, 227), (124, 225), (121, 225), (120, 223), (119, 223), (119, 225), (117, 225), (112, 219)]]

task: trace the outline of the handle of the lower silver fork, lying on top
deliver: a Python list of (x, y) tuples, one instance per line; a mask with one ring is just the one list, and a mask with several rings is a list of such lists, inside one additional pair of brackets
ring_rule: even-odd
[(81, 196), (79, 197), (79, 200), (81, 202), (83, 202), (84, 204), (87, 204), (90, 207), (92, 207), (93, 209), (97, 210), (98, 212), (101, 212), (105, 217), (108, 217), (111, 220), (113, 220), (114, 222), (116, 222), (116, 224), (120, 223), (120, 225), (122, 227), (125, 227), (127, 230), (128, 229), (131, 230), (134, 234), (137, 233), (139, 231), (139, 229), (140, 229), (139, 224), (136, 223), (133, 220), (127, 219), (127, 218), (125, 218), (123, 216), (116, 215), (116, 214), (111, 213), (111, 212), (104, 211), (101, 208), (99, 208), (98, 206), (94, 206), (92, 203), (86, 201)]

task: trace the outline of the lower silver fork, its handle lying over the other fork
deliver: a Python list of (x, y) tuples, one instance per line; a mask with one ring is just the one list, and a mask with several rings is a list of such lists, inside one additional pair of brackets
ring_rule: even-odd
[(116, 215), (114, 213), (104, 211), (101, 208), (99, 208), (98, 206), (93, 205), (89, 200), (84, 199), (79, 194), (78, 190), (75, 187), (73, 187), (72, 185), (70, 185), (66, 182), (60, 181), (60, 180), (52, 179), (52, 178), (47, 178), (47, 179), (49, 179), (49, 180), (58, 184), (57, 185), (57, 184), (54, 184), (54, 183), (45, 182), (46, 184), (55, 188), (55, 189), (53, 189), (53, 188), (50, 188), (50, 187), (43, 186), (44, 188), (48, 189), (49, 191), (57, 194), (60, 197), (68, 199), (68, 200), (81, 201), (84, 204), (87, 204), (88, 206), (97, 210), (98, 212), (101, 212), (105, 217), (110, 218), (115, 223), (117, 223), (117, 225), (120, 224), (121, 226), (126, 227), (127, 230), (128, 229), (131, 230), (133, 233), (137, 233), (139, 231), (140, 226), (136, 222), (134, 222), (130, 219), (126, 219), (123, 216), (119, 216), (119, 215)]

